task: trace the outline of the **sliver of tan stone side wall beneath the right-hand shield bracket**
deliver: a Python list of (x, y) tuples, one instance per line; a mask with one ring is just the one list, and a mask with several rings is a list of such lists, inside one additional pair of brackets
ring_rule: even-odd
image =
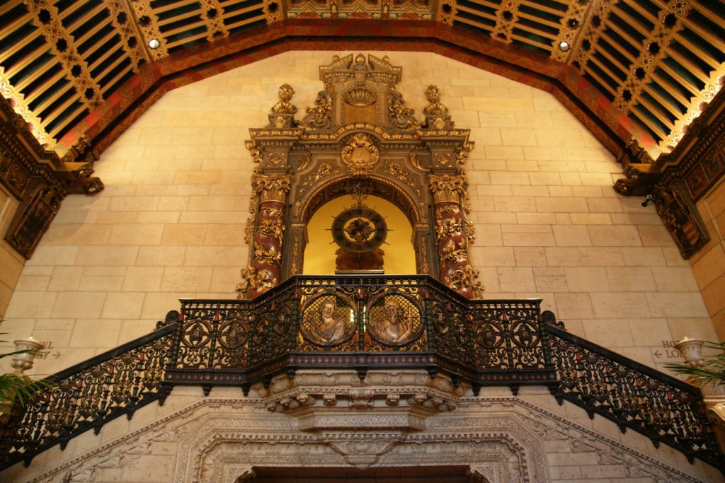
[(725, 181), (697, 202), (710, 242), (690, 260), (719, 340), (725, 341)]

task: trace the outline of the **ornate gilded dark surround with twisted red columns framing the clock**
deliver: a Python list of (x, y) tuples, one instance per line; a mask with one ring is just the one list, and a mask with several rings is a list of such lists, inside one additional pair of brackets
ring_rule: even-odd
[[(294, 89), (284, 84), (269, 124), (249, 130), (247, 148), (256, 166), (245, 237), (249, 263), (237, 287), (239, 298), (254, 298), (301, 274), (310, 217), (353, 189), (384, 198), (406, 215), (418, 274), (478, 297), (482, 288), (468, 253), (474, 235), (463, 171), (473, 142), (469, 130), (454, 127), (442, 91), (435, 85), (423, 90), (429, 104), (421, 121), (397, 91), (402, 67), (387, 56), (334, 56), (320, 67), (320, 80), (323, 91), (302, 120), (294, 118)], [(395, 303), (387, 306), (393, 314)], [(329, 314), (336, 310), (328, 301), (329, 327), (312, 340), (324, 343), (345, 333)], [(405, 330), (395, 324), (379, 334), (393, 332), (390, 340), (405, 339)]]

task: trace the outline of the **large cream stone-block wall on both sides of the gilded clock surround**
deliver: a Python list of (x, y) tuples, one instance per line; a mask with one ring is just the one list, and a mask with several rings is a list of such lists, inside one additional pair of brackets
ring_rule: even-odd
[[(236, 295), (249, 127), (268, 122), (283, 83), (301, 118), (334, 54), (347, 52), (281, 54), (179, 88), (102, 154), (107, 188), (66, 198), (2, 327), (52, 343), (39, 372), (149, 332), (177, 298)], [(442, 56), (373, 54), (403, 67), (398, 88), (419, 117), (434, 83), (471, 128), (472, 257), (486, 298), (543, 298), (572, 332), (650, 366), (677, 360), (668, 341), (715, 337), (654, 207), (613, 191), (612, 154), (553, 96)]]

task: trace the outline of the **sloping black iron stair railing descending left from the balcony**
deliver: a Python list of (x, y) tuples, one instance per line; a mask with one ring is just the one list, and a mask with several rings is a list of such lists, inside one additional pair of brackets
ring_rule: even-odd
[(51, 387), (22, 412), (11, 414), (2, 430), (0, 468), (19, 461), (27, 466), (54, 445), (64, 449), (78, 434), (89, 429), (98, 434), (118, 416), (130, 419), (154, 400), (163, 403), (176, 317), (178, 312), (172, 311), (151, 334), (44, 379)]

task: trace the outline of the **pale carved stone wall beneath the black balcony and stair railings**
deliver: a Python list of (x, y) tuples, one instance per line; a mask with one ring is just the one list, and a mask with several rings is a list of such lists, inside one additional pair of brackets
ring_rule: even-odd
[[(320, 390), (336, 395), (336, 403), (318, 398), (299, 411), (270, 411), (270, 401), (280, 395)], [(379, 396), (370, 399), (376, 410), (349, 403), (348, 395), (360, 390)], [(410, 408), (403, 397), (386, 405), (384, 393), (411, 391), (453, 399), (456, 406), (426, 413)], [(305, 429), (315, 413), (319, 427)], [(405, 427), (406, 421), (415, 427)], [(470, 469), (491, 483), (718, 482), (722, 476), (700, 461), (690, 465), (665, 445), (655, 448), (637, 432), (623, 434), (600, 416), (590, 420), (581, 408), (558, 406), (544, 387), (523, 388), (518, 398), (507, 388), (473, 397), (464, 386), (454, 387), (442, 375), (431, 379), (424, 371), (371, 371), (364, 381), (352, 371), (334, 377), (309, 371), (292, 381), (282, 375), (269, 390), (254, 387), (248, 398), (238, 388), (215, 388), (203, 398), (200, 387), (177, 387), (164, 406), (152, 403), (130, 421), (118, 418), (98, 436), (86, 432), (63, 452), (52, 448), (28, 469), (18, 463), (0, 478), (232, 483), (254, 466), (314, 476), (319, 467), (354, 474), (355, 468), (452, 465), (463, 466), (462, 476)]]

